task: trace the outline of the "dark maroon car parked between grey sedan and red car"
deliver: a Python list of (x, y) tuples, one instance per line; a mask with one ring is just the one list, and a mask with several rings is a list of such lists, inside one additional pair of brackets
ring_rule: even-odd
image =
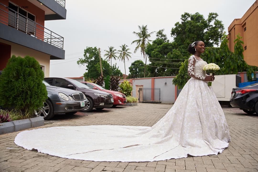
[(93, 108), (101, 110), (113, 106), (114, 99), (112, 94), (91, 89), (79, 81), (69, 78), (44, 78), (44, 80), (56, 87), (69, 88), (83, 92), (89, 101), (85, 106), (85, 109), (81, 110), (83, 112), (90, 112)]

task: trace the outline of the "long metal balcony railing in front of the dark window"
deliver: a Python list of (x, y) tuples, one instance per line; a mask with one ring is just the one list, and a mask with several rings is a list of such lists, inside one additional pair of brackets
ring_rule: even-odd
[(4, 4), (0, 3), (0, 23), (63, 49), (63, 37), (10, 8), (8, 12), (4, 11), (2, 7), (7, 9)]

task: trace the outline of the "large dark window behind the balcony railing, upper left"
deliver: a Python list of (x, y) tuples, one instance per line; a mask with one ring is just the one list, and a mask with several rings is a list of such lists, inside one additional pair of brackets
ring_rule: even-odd
[(8, 25), (29, 35), (35, 35), (35, 15), (9, 2)]

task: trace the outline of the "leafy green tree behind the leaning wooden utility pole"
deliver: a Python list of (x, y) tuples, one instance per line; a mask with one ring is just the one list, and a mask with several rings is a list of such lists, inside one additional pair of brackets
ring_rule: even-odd
[[(82, 64), (86, 65), (86, 70), (87, 73), (85, 73), (85, 78), (93, 78), (96, 79), (101, 75), (100, 71), (100, 62), (99, 62), (99, 50), (96, 47), (87, 47), (84, 49), (84, 58), (79, 58), (77, 61), (77, 64)], [(103, 70), (103, 75), (111, 75), (112, 70), (110, 65), (108, 64), (107, 61), (103, 60), (102, 61), (102, 70)]]

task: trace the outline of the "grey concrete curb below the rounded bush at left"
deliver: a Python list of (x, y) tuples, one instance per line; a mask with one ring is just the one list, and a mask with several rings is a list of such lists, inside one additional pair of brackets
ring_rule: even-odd
[(0, 123), (0, 134), (11, 133), (44, 125), (42, 116)]

